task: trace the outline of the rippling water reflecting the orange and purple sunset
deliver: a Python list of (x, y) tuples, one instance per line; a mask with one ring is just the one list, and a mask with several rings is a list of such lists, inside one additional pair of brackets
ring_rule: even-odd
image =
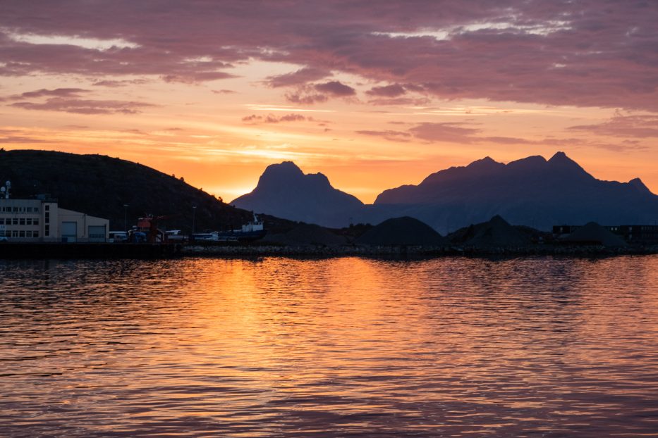
[(0, 261), (2, 437), (658, 437), (658, 257)]

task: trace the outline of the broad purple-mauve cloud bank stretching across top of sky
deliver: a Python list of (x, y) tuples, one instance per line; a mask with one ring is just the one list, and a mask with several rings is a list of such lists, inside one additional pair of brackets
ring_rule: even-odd
[[(655, 1), (379, 2), (377, 13), (370, 2), (344, 0), (258, 8), (237, 0), (118, 0), (103, 13), (83, 0), (37, 5), (4, 2), (0, 75), (199, 83), (233, 77), (233, 65), (268, 61), (303, 66), (267, 77), (272, 87), (310, 87), (331, 72), (439, 99), (658, 111)], [(85, 46), (81, 35), (107, 44)], [(339, 84), (288, 95), (317, 103), (354, 94)], [(386, 87), (369, 95), (403, 96), (376, 95), (396, 93)]]

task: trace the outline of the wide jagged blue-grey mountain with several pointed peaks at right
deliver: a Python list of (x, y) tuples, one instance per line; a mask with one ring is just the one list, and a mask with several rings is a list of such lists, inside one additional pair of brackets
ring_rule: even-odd
[[(508, 164), (487, 157), (429, 175), (417, 186), (377, 196), (365, 220), (409, 215), (445, 232), (502, 215), (516, 225), (653, 223), (658, 196), (639, 179), (597, 180), (558, 152), (546, 161), (530, 156)], [(364, 218), (359, 218), (364, 220)]]

